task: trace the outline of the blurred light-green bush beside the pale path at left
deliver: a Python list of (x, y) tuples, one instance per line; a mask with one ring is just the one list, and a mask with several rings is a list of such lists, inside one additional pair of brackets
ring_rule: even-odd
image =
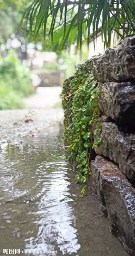
[(0, 58), (0, 109), (24, 107), (23, 97), (34, 92), (30, 70), (22, 66), (14, 52)]

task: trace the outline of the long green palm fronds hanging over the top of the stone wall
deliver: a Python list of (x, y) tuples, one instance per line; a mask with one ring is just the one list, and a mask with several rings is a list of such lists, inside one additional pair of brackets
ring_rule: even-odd
[(110, 47), (112, 31), (120, 39), (135, 34), (134, 14), (135, 0), (34, 0), (23, 17), (30, 22), (34, 39), (42, 30), (44, 38), (51, 35), (53, 47), (62, 50), (75, 41), (79, 48), (83, 40), (89, 45), (99, 30), (106, 47)]

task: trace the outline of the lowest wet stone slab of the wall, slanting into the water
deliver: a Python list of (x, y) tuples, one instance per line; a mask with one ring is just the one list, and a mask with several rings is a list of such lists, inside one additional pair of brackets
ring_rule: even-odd
[(91, 161), (90, 189), (98, 195), (100, 210), (108, 216), (110, 230), (131, 255), (135, 255), (135, 187), (110, 161), (97, 156)]

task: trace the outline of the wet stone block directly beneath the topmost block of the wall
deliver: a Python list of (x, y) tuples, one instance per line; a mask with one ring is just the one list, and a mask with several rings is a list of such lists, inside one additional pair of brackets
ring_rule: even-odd
[(98, 106), (106, 116), (135, 125), (135, 82), (103, 84)]

